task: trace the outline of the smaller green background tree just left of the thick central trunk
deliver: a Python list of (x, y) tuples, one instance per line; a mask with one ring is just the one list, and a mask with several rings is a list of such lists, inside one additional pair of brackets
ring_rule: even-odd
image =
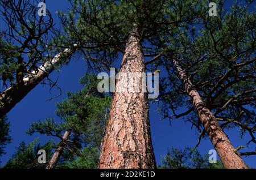
[[(97, 91), (99, 80), (96, 76), (85, 75), (80, 82), (84, 85), (83, 89), (76, 93), (68, 93), (66, 100), (56, 104), (56, 113), (63, 119), (63, 122), (57, 123), (47, 118), (43, 122), (32, 123), (27, 131), (30, 135), (39, 132), (60, 139), (48, 162), (47, 169), (55, 168), (55, 166), (67, 168), (72, 167), (72, 164), (75, 166), (80, 153), (82, 157), (88, 155), (94, 160), (86, 161), (82, 165), (80, 163), (80, 168), (96, 168), (94, 165), (98, 162), (111, 98)], [(90, 164), (92, 166), (89, 166)]]

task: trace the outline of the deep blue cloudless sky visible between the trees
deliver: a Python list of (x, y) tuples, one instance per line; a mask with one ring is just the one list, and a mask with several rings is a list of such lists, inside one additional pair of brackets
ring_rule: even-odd
[[(69, 7), (69, 3), (63, 0), (46, 1), (46, 7), (51, 11), (55, 22), (58, 24), (56, 10), (65, 10)], [(1, 30), (1, 29), (0, 29)], [(118, 59), (121, 63), (121, 58)], [(32, 142), (36, 137), (39, 137), (40, 143), (45, 143), (50, 137), (35, 134), (33, 136), (25, 134), (32, 122), (36, 122), (39, 119), (43, 120), (48, 117), (56, 117), (55, 114), (55, 102), (59, 102), (67, 97), (66, 92), (76, 92), (82, 88), (79, 84), (79, 78), (86, 72), (86, 64), (82, 58), (73, 58), (68, 66), (60, 68), (60, 72), (52, 72), (50, 78), (58, 80), (58, 85), (62, 89), (62, 95), (54, 98), (51, 101), (46, 101), (48, 98), (56, 96), (57, 91), (53, 91), (52, 94), (48, 92), (49, 87), (43, 87), (39, 84), (28, 95), (23, 98), (12, 110), (9, 112), (8, 118), (11, 123), (11, 133), (13, 140), (11, 144), (6, 147), (6, 155), (1, 157), (2, 164), (5, 164), (7, 160), (15, 152), (15, 147), (24, 140), (26, 143)], [(180, 109), (181, 112), (183, 109)], [(160, 121), (161, 117), (156, 113), (156, 105), (150, 106), (150, 122), (151, 122), (151, 136), (154, 146), (155, 157), (158, 164), (160, 164), (161, 156), (165, 155), (168, 147), (184, 148), (194, 147), (197, 142), (197, 136), (195, 135), (195, 129), (191, 130), (191, 124), (185, 123), (182, 119), (175, 119), (172, 121), (172, 126), (169, 122)], [(234, 147), (245, 145), (249, 139), (249, 136), (239, 138), (238, 129), (226, 131), (230, 141)], [(203, 139), (199, 145), (200, 153), (207, 154), (210, 149), (214, 149), (209, 139)], [(246, 148), (246, 151), (254, 151), (254, 148)], [(251, 167), (256, 168), (255, 156), (243, 157), (245, 162)]]

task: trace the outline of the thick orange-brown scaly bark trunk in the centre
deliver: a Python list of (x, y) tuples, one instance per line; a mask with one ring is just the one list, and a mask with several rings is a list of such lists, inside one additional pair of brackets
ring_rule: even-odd
[[(141, 85), (145, 66), (136, 27), (127, 41), (120, 72), (127, 76), (129, 72), (137, 72), (140, 85), (136, 87), (129, 76), (122, 80), (119, 77), (116, 82), (110, 118), (101, 144), (99, 168), (155, 168), (148, 95), (142, 92)], [(130, 87), (139, 88), (139, 92), (127, 91), (129, 83)]]

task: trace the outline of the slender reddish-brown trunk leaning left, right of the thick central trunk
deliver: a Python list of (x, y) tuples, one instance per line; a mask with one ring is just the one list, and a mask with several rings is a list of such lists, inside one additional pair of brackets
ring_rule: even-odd
[(230, 169), (247, 168), (245, 162), (243, 162), (242, 158), (235, 152), (235, 149), (230, 143), (228, 137), (224, 131), (222, 131), (217, 119), (205, 106), (199, 93), (193, 87), (191, 80), (187, 75), (185, 75), (185, 72), (181, 66), (178, 65), (175, 59), (172, 59), (172, 62), (174, 63), (177, 72), (179, 73), (180, 79), (184, 84), (186, 92), (188, 93), (189, 97), (191, 97), (191, 101), (199, 116), (199, 119), (204, 125), (205, 131), (207, 132), (213, 147), (216, 149), (224, 167)]

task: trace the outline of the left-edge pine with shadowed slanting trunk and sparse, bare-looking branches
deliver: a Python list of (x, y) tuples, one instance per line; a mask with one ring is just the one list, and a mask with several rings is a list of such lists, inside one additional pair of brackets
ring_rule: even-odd
[(57, 31), (48, 10), (46, 16), (38, 16), (38, 3), (1, 1), (0, 7), (1, 26), (7, 27), (0, 40), (0, 77), (3, 88), (7, 87), (0, 93), (2, 117), (56, 67), (68, 62), (77, 44), (61, 48), (62, 36), (49, 38)]

